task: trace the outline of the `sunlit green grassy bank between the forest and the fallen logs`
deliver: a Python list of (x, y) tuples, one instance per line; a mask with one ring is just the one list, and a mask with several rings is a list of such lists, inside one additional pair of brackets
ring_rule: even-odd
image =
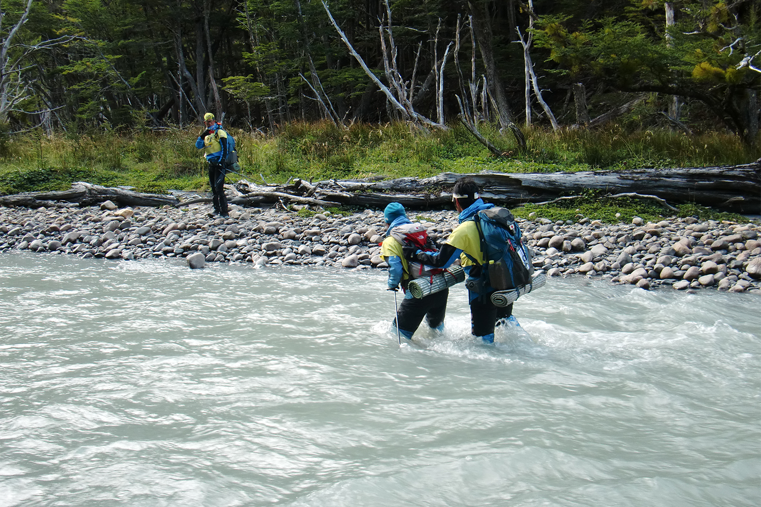
[[(483, 170), (552, 173), (721, 166), (761, 157), (758, 147), (745, 147), (736, 137), (722, 133), (686, 136), (667, 130), (624, 132), (616, 125), (558, 133), (532, 128), (526, 132), (528, 150), (520, 153), (511, 135), (503, 135), (490, 125), (481, 128), (508, 157), (492, 156), (459, 124), (430, 133), (403, 123), (355, 124), (342, 129), (327, 122), (293, 123), (272, 135), (236, 129), (230, 132), (236, 138), (248, 179), (266, 182), (285, 182), (291, 177), (314, 181), (425, 177)], [(129, 185), (142, 192), (207, 190), (205, 162), (194, 146), (197, 132), (194, 125), (162, 131), (92, 129), (50, 136), (41, 131), (13, 135), (0, 139), (0, 192), (63, 190), (75, 181)], [(599, 205), (600, 201), (593, 199), (590, 204)], [(581, 209), (584, 203), (571, 206), (568, 213)]]

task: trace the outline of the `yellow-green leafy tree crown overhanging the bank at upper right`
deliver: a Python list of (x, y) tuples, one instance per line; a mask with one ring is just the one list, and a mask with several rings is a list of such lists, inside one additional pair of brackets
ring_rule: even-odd
[(670, 3), (678, 14), (671, 27), (661, 22), (664, 2), (653, 0), (595, 20), (545, 16), (537, 25), (537, 45), (550, 50), (559, 74), (618, 90), (689, 97), (734, 132), (749, 135), (747, 109), (756, 114), (758, 106), (745, 95), (758, 88), (759, 72), (743, 59), (761, 43), (758, 4), (754, 9), (750, 2)]

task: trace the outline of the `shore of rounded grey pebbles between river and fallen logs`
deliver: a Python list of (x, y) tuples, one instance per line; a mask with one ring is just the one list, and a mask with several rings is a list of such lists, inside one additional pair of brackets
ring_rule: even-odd
[[(379, 242), (383, 211), (343, 216), (231, 206), (229, 217), (209, 204), (186, 208), (0, 207), (0, 252), (79, 255), (134, 261), (184, 258), (190, 268), (213, 262), (335, 268), (387, 268)], [(309, 215), (309, 216), (307, 216)], [(408, 211), (443, 240), (457, 227), (455, 211)], [(761, 293), (758, 223), (702, 222), (694, 217), (607, 224), (580, 217), (517, 220), (533, 265), (549, 277), (598, 277), (642, 289)]]

